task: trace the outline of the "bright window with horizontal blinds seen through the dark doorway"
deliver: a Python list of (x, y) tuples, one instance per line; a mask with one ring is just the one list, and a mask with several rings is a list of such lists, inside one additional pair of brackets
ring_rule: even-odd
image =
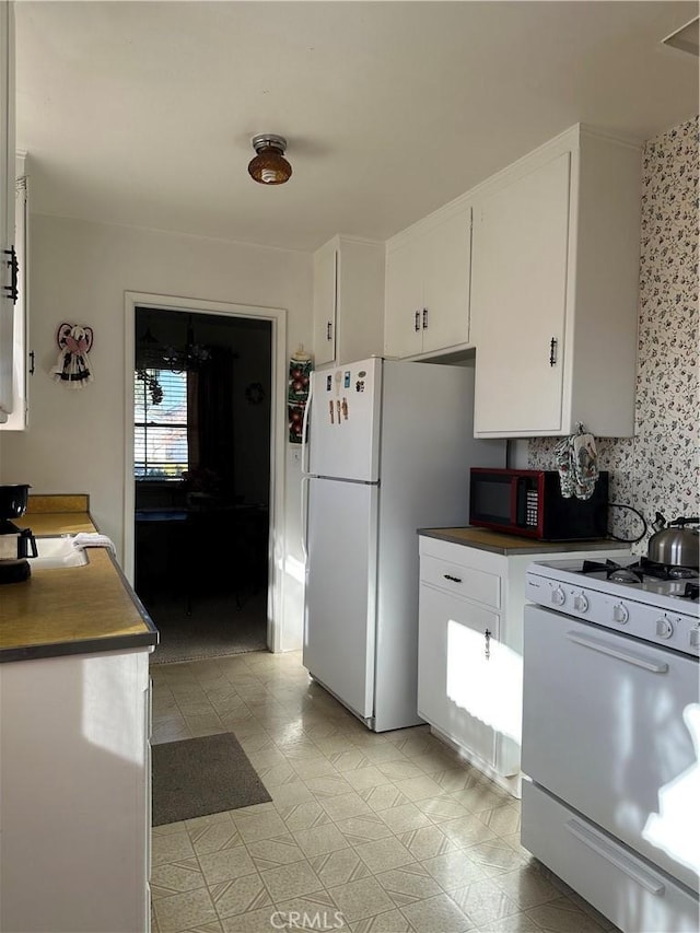
[(133, 475), (179, 480), (188, 467), (187, 373), (133, 374)]

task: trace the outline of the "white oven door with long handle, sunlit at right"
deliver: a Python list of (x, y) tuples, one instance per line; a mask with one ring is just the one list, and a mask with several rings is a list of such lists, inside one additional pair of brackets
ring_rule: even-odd
[(538, 606), (523, 658), (523, 771), (697, 891), (698, 662)]

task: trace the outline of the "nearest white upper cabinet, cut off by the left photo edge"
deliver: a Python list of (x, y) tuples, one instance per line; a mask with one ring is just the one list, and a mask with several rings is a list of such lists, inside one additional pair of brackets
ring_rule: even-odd
[(0, 423), (14, 406), (14, 9), (0, 0)]

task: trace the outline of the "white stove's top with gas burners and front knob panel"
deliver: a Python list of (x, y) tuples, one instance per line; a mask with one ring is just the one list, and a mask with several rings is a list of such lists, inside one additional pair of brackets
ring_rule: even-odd
[(700, 656), (698, 571), (637, 557), (535, 561), (526, 598), (643, 641)]

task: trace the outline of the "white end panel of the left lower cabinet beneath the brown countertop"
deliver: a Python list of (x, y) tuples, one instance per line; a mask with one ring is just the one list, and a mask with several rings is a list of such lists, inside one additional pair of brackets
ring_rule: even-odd
[(0, 930), (150, 929), (149, 650), (0, 665)]

